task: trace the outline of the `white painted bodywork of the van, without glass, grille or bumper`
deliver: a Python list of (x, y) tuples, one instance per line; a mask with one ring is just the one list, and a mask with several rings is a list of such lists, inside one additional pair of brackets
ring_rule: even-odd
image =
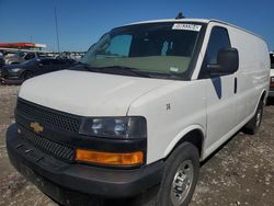
[[(260, 37), (227, 23), (196, 21), (199, 22), (208, 23), (208, 26), (191, 81), (65, 70), (26, 81), (19, 95), (83, 116), (145, 116), (148, 127), (147, 163), (167, 157), (185, 134), (198, 129), (205, 136), (203, 160), (252, 118), (262, 93), (269, 90), (270, 60), (266, 44)], [(228, 30), (231, 46), (239, 50), (240, 58), (236, 73), (219, 78), (221, 96), (217, 95), (214, 87), (218, 82), (198, 80), (214, 26)], [(175, 71), (173, 68), (170, 70)], [(236, 94), (235, 78), (238, 79)]]

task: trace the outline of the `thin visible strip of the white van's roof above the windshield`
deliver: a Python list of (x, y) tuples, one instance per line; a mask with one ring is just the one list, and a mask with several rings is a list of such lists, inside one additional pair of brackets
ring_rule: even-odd
[(167, 19), (167, 20), (150, 20), (150, 21), (142, 21), (142, 22), (135, 22), (135, 23), (132, 23), (132, 24), (127, 24), (127, 25), (135, 25), (135, 24), (147, 24), (147, 23), (164, 23), (164, 22), (197, 22), (197, 23), (206, 23), (208, 24), (209, 22), (217, 22), (217, 23), (221, 23), (221, 24), (225, 24), (225, 25), (229, 25), (229, 26), (232, 26), (235, 28), (238, 28), (238, 30), (241, 30), (243, 32), (247, 32), (249, 34), (252, 34), (259, 38), (262, 38), (260, 35), (258, 34), (254, 34), (253, 32), (250, 32), (246, 28), (242, 28), (242, 27), (239, 27), (237, 25), (233, 25), (233, 24), (230, 24), (228, 22), (225, 22), (225, 21), (220, 21), (220, 20), (215, 20), (215, 19)]

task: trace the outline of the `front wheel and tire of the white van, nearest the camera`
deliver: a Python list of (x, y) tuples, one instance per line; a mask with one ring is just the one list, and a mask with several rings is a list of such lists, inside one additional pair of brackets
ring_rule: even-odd
[(158, 206), (187, 206), (197, 184), (199, 154), (189, 142), (180, 145), (168, 158), (157, 196)]

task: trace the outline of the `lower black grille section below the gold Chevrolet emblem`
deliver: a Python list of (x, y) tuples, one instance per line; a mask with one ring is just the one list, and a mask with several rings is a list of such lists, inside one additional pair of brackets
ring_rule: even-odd
[(36, 135), (33, 131), (24, 127), (19, 127), (21, 129), (22, 137), (27, 139), (36, 148), (49, 153), (58, 159), (62, 159), (68, 162), (73, 161), (73, 149), (66, 147), (64, 145), (52, 141), (45, 137)]

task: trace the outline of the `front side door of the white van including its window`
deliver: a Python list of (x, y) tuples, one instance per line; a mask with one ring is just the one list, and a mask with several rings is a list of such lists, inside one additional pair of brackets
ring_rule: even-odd
[(207, 65), (217, 65), (217, 55), (221, 48), (230, 48), (230, 38), (226, 27), (209, 23), (210, 35), (201, 68), (199, 79), (206, 81), (207, 139), (205, 148), (210, 153), (221, 145), (229, 131), (236, 126), (236, 73), (227, 76), (209, 75)]

